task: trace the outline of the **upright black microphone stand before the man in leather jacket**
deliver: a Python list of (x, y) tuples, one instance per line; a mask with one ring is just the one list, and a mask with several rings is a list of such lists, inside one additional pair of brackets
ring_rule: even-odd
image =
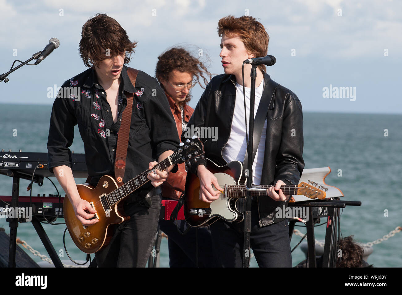
[[(257, 77), (258, 65), (252, 65), (250, 77), (251, 77), (251, 89), (250, 89), (250, 116), (248, 124), (248, 173), (247, 173), (247, 187), (252, 187), (252, 146), (253, 146), (253, 134), (254, 134), (254, 101), (255, 101), (255, 80)], [(244, 114), (246, 115), (246, 114)], [(250, 267), (250, 233), (251, 233), (251, 191), (246, 193), (246, 205), (244, 208), (244, 240), (243, 240), (243, 265), (242, 267)]]

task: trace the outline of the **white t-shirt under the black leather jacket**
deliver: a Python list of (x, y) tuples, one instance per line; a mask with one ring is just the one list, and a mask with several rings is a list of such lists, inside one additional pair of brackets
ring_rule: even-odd
[[(261, 96), (263, 95), (263, 87), (264, 87), (263, 84), (264, 84), (263, 81), (261, 81), (260, 85), (255, 89), (254, 118), (258, 110), (258, 105), (260, 104)], [(250, 87), (245, 87), (247, 128), (249, 127), (248, 119), (250, 116), (250, 91), (251, 91)], [(257, 153), (254, 158), (254, 163), (252, 165), (254, 185), (261, 184), (261, 173), (263, 172), (266, 132), (267, 132), (267, 119), (265, 119), (263, 132), (261, 133), (260, 143), (258, 144)], [(254, 140), (256, 140), (256, 138), (254, 138)], [(226, 146), (222, 151), (222, 156), (226, 162), (237, 160), (243, 163), (246, 152), (247, 152), (247, 146), (246, 146), (246, 126), (244, 119), (243, 86), (236, 83), (236, 102), (234, 105), (232, 128), (230, 130), (228, 143), (226, 144)]]

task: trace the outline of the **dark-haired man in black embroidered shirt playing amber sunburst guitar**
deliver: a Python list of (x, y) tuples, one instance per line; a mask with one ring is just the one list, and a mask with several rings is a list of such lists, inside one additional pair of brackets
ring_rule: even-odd
[[(73, 87), (79, 92), (66, 97), (61, 90), (53, 103), (47, 142), (49, 169), (66, 192), (76, 218), (82, 223), (80, 228), (89, 230), (99, 220), (95, 218), (96, 210), (80, 197), (71, 171), (68, 147), (76, 124), (84, 142), (92, 186), (103, 175), (115, 176), (118, 132), (124, 124), (122, 114), (129, 94), (134, 96), (122, 182), (152, 169), (156, 161), (167, 158), (178, 148), (176, 124), (156, 79), (139, 71), (133, 85), (127, 74), (125, 63), (130, 61), (135, 46), (116, 20), (96, 14), (82, 27), (80, 41), (81, 57), (90, 68), (62, 85), (62, 90)], [(98, 267), (145, 267), (158, 228), (160, 185), (172, 167), (153, 170), (147, 176), (151, 182), (145, 182), (144, 178), (144, 185), (121, 200), (130, 219), (115, 226), (109, 244), (95, 253)], [(97, 242), (92, 238), (92, 243), (86, 246), (90, 248)]]

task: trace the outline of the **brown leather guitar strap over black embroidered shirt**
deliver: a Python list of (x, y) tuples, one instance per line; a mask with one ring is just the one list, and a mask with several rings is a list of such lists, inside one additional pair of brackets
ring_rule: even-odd
[[(135, 87), (135, 80), (137, 79), (138, 70), (131, 67), (127, 68), (127, 75), (129, 76), (133, 87)], [(117, 149), (115, 159), (115, 179), (117, 185), (123, 185), (123, 176), (126, 166), (127, 146), (131, 124), (131, 114), (133, 109), (133, 93), (126, 93), (127, 106), (123, 110), (121, 117), (121, 125), (119, 128), (119, 136), (117, 137)]]

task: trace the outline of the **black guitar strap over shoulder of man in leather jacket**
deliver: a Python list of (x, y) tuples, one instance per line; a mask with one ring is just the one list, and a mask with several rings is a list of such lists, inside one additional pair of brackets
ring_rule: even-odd
[[(253, 146), (252, 146), (253, 163), (257, 153), (258, 144), (260, 144), (261, 134), (263, 133), (264, 123), (265, 119), (267, 118), (268, 109), (273, 109), (273, 103), (274, 103), (273, 100), (275, 99), (274, 94), (278, 85), (279, 83), (275, 82), (273, 79), (269, 79), (267, 82), (267, 86), (265, 86), (265, 89), (263, 90), (263, 96), (261, 97), (260, 104), (258, 105), (257, 113), (254, 118), (254, 132), (253, 132)], [(246, 155), (244, 156), (243, 161), (243, 169), (247, 169), (247, 167), (248, 167), (248, 153), (246, 150)]]

